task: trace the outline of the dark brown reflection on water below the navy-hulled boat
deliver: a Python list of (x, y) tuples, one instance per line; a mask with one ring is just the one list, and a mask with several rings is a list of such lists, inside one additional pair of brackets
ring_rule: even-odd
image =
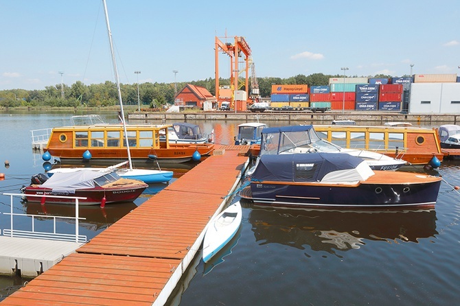
[(365, 240), (417, 242), (433, 237), (435, 210), (420, 211), (323, 211), (253, 207), (249, 223), (259, 244), (284, 244), (305, 249), (360, 248)]

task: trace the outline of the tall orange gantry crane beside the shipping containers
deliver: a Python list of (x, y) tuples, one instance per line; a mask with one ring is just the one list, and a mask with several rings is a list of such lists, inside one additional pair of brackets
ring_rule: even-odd
[[(225, 37), (227, 38), (227, 36)], [(251, 48), (243, 37), (235, 36), (235, 43), (222, 43), (216, 36), (216, 99), (220, 102), (219, 97), (219, 52), (223, 52), (230, 57), (230, 83), (231, 83), (231, 107), (235, 107), (235, 91), (239, 91), (244, 86), (246, 91), (246, 100), (249, 99), (249, 56)], [(244, 70), (240, 71), (240, 61), (244, 55)], [(240, 82), (240, 73), (245, 73), (245, 82)]]

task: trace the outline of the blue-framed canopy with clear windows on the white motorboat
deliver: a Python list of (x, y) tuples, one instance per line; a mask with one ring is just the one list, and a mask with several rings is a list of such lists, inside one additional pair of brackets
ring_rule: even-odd
[(264, 128), (262, 130), (260, 155), (280, 154), (317, 141), (321, 141), (321, 138), (312, 125)]

